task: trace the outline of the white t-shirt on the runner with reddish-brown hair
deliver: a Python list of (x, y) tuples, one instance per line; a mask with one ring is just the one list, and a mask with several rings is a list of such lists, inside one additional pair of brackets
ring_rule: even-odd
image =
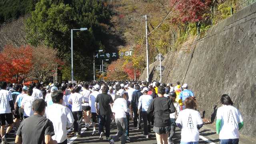
[(203, 121), (198, 111), (192, 109), (180, 111), (176, 123), (182, 125), (181, 142), (199, 141), (199, 131), (197, 129), (197, 125), (203, 124)]

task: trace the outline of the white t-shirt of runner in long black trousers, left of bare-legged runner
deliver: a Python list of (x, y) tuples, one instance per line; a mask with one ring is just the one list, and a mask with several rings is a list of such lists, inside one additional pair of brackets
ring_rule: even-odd
[(72, 102), (72, 112), (82, 111), (83, 95), (74, 93), (70, 95), (69, 102)]

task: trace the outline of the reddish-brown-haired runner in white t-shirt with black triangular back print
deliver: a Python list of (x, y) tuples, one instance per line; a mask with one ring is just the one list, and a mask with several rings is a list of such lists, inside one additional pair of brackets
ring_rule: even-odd
[(198, 144), (199, 129), (203, 126), (201, 115), (196, 108), (196, 102), (192, 97), (185, 99), (186, 109), (180, 111), (176, 125), (181, 129), (180, 144)]

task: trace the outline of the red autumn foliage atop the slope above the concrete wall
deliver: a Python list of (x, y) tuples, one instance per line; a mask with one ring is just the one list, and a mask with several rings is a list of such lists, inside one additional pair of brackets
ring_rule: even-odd
[[(177, 4), (177, 0), (170, 0), (171, 6)], [(203, 19), (203, 14), (208, 10), (212, 0), (181, 0), (175, 9), (178, 16), (172, 22), (198, 22)]]

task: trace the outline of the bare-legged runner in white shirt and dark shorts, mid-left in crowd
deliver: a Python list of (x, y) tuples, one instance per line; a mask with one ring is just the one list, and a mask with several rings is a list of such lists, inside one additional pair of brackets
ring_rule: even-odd
[(84, 84), (84, 90), (80, 92), (80, 94), (83, 95), (84, 97), (84, 103), (82, 104), (82, 110), (84, 112), (84, 123), (85, 123), (85, 128), (86, 130), (89, 130), (90, 126), (90, 110), (91, 107), (89, 106), (89, 98), (90, 98), (90, 93), (91, 91), (89, 90), (89, 85)]

